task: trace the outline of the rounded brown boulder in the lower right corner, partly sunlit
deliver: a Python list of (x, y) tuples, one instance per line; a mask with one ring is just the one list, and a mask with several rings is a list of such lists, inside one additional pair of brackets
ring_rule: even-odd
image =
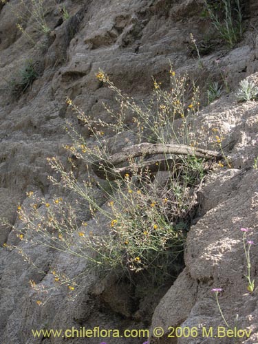
[[(245, 338), (241, 343), (255, 343), (258, 330), (255, 320), (258, 315), (255, 301), (257, 289), (253, 294), (247, 291), (244, 277), (246, 257), (240, 228), (250, 228), (248, 239), (257, 242), (257, 171), (234, 174), (230, 178), (226, 177), (226, 186), (235, 184), (235, 187), (231, 184), (230, 192), (223, 192), (222, 176), (213, 185), (217, 186), (217, 192), (212, 185), (204, 188), (206, 197), (209, 195), (212, 200), (214, 191), (220, 195), (220, 200), (215, 200), (211, 210), (192, 226), (186, 244), (186, 268), (156, 308), (152, 328), (189, 326), (202, 329), (203, 326), (224, 326), (211, 292), (212, 288), (222, 288), (219, 301), (226, 321), (233, 326), (238, 314), (237, 327), (251, 330), (250, 340)], [(250, 252), (252, 278), (255, 278), (258, 259), (255, 246)], [(168, 333), (167, 330), (165, 332)], [(178, 338), (177, 343), (200, 343), (200, 338)], [(219, 343), (233, 343), (230, 338), (219, 340)], [(162, 339), (157, 343), (167, 342)], [(217, 343), (217, 339), (202, 338), (202, 343)]]

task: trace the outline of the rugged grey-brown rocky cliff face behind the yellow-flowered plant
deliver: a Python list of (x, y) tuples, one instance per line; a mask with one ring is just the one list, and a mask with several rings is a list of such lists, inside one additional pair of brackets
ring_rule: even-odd
[[(56, 1), (58, 2), (58, 1)], [(19, 11), (21, 1), (10, 0)], [(203, 107), (197, 125), (201, 147), (213, 147), (212, 129), (224, 136), (224, 151), (232, 160), (231, 169), (217, 169), (209, 175), (200, 195), (199, 217), (191, 227), (184, 254), (186, 267), (160, 303), (152, 297), (133, 305), (127, 286), (109, 281), (101, 285), (94, 275), (71, 299), (67, 288), (47, 294), (39, 306), (30, 280), (41, 287), (52, 286), (52, 270), (58, 266), (69, 278), (85, 270), (80, 259), (46, 250), (17, 239), (10, 228), (0, 228), (0, 244), (14, 244), (26, 250), (35, 269), (21, 259), (17, 250), (0, 248), (0, 341), (3, 344), (69, 343), (64, 338), (32, 338), (32, 328), (67, 328), (96, 325), (107, 328), (146, 328), (144, 314), (154, 309), (152, 328), (162, 326), (200, 327), (222, 325), (211, 288), (223, 288), (220, 297), (230, 324), (239, 314), (239, 327), (252, 330), (241, 343), (258, 342), (257, 289), (246, 290), (245, 257), (239, 228), (250, 228), (258, 242), (257, 170), (258, 106), (239, 104), (234, 95), (239, 80), (258, 77), (258, 7), (246, 1), (244, 39), (233, 50), (216, 40), (205, 43), (200, 68), (193, 56), (190, 33), (205, 41), (211, 23), (200, 17), (202, 1), (195, 0), (85, 0), (65, 1), (69, 19), (63, 20), (60, 4), (47, 0), (45, 20), (51, 32), (35, 30), (32, 17), (23, 23), (30, 39), (17, 29), (17, 18), (7, 3), (0, 3), (0, 215), (16, 223), (17, 204), (30, 205), (26, 191), (44, 195), (56, 193), (47, 175), (52, 171), (46, 158), (58, 156), (65, 163), (63, 144), (69, 143), (65, 119), (78, 125), (65, 103), (66, 96), (96, 118), (107, 114), (102, 103), (115, 107), (114, 94), (96, 78), (101, 68), (115, 85), (136, 99), (148, 99), (152, 78), (169, 85), (169, 60), (177, 73), (188, 72), (204, 94), (210, 80), (223, 74), (230, 94)], [(11, 94), (12, 77), (17, 77), (25, 61), (31, 59), (36, 80), (19, 94)], [(206, 96), (202, 102), (206, 101)], [(86, 134), (86, 133), (85, 133)], [(129, 142), (130, 143), (130, 142)], [(128, 142), (119, 142), (124, 147)], [(78, 178), (83, 176), (79, 169)], [(61, 193), (61, 191), (59, 192)], [(65, 193), (67, 200), (72, 196)], [(257, 246), (251, 250), (252, 274), (257, 277)], [(40, 271), (40, 272), (39, 272)], [(96, 288), (96, 285), (98, 288)], [(156, 307), (158, 303), (158, 306)], [(140, 307), (140, 308), (139, 308)], [(148, 310), (148, 311), (147, 311)], [(167, 334), (167, 333), (166, 333)], [(230, 338), (165, 338), (153, 343), (233, 343)], [(100, 343), (98, 338), (71, 340), (73, 343)], [(107, 341), (107, 340), (106, 340)], [(122, 343), (142, 343), (139, 338)], [(111, 338), (108, 343), (121, 343)]]

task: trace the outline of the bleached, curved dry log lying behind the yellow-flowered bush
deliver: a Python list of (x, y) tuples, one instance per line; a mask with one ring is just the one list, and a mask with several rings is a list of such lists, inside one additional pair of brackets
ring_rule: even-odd
[[(116, 167), (123, 162), (130, 162), (133, 158), (147, 158), (149, 155), (159, 154), (169, 156), (158, 160), (147, 160), (139, 164), (133, 163), (129, 166)], [(208, 151), (206, 149), (194, 148), (183, 144), (140, 143), (122, 149), (119, 153), (110, 155), (108, 161), (103, 159), (93, 162), (92, 169), (99, 178), (108, 180), (116, 180), (124, 177), (127, 173), (131, 175), (135, 173), (135, 171), (139, 172), (143, 169), (148, 169), (151, 172), (169, 171), (173, 164), (182, 162), (182, 158), (171, 158), (170, 155), (191, 155), (206, 160), (219, 160), (222, 158), (222, 154), (218, 151)]]

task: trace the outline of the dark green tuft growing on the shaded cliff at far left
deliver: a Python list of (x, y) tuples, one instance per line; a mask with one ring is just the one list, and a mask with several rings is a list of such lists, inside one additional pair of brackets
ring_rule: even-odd
[(39, 74), (36, 72), (33, 61), (30, 59), (25, 62), (25, 65), (19, 70), (17, 76), (13, 76), (12, 79), (8, 81), (8, 89), (13, 96), (18, 98), (38, 77)]

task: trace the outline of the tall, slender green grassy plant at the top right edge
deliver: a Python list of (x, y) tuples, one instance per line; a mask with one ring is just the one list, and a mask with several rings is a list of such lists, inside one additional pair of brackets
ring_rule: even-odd
[[(234, 47), (243, 36), (240, 0), (220, 0), (219, 3), (204, 0), (204, 6), (219, 36), (230, 48)], [(223, 19), (219, 18), (219, 12)]]

